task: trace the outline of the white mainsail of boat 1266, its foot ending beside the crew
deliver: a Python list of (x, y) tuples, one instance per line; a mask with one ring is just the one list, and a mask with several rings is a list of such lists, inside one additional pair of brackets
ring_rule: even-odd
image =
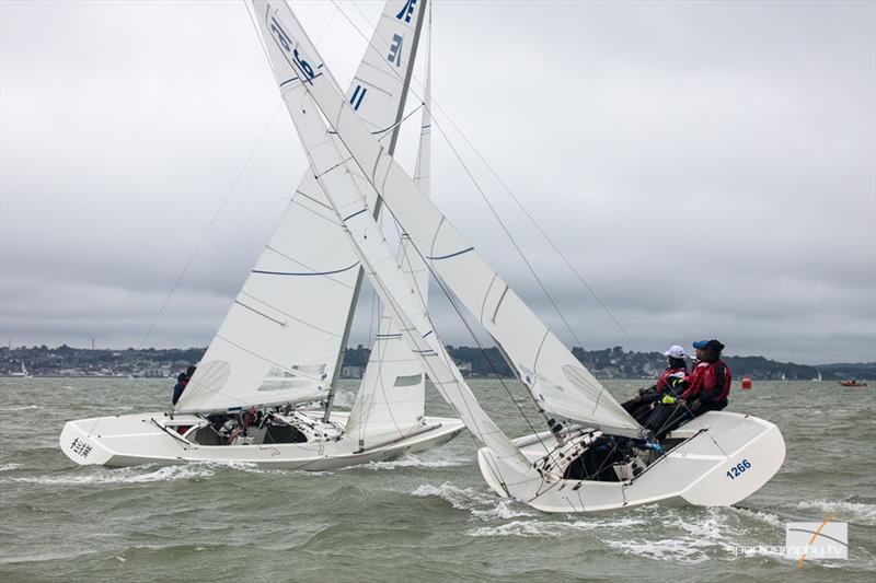
[[(283, 62), (300, 74), (301, 86), (312, 96), (360, 173), (380, 193), (431, 270), (502, 347), (535, 403), (560, 418), (607, 433), (641, 435), (642, 427), (417, 190), (324, 75), (314, 74), (322, 68), (322, 60), (291, 11), (285, 4), (264, 0), (253, 3), (261, 16), (265, 43), (274, 49), (269, 51), (274, 66)], [(365, 205), (370, 208), (367, 201)]]

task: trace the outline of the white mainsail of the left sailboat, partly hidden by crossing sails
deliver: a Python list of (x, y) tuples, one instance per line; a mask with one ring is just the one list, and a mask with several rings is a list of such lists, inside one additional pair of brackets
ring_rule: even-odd
[[(404, 73), (423, 14), (408, 12), (408, 4), (410, 0), (387, 2), (347, 95), (355, 115), (376, 137), (387, 138), (384, 147), (402, 116)], [(394, 40), (400, 36), (411, 42)], [(286, 73), (278, 78), (280, 91), (298, 78), (292, 70)], [(315, 74), (339, 91), (331, 75)], [(377, 195), (370, 186), (368, 193), (373, 205)], [(356, 255), (308, 172), (175, 410), (325, 398), (346, 343), (358, 279)]]

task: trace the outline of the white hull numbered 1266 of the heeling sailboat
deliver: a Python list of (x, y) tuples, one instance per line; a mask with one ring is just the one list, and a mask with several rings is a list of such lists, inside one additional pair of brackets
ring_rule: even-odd
[[(553, 445), (550, 433), (541, 438), (549, 446)], [(706, 412), (668, 439), (685, 441), (635, 478), (624, 481), (550, 480), (534, 468), (520, 474), (499, 463), (503, 487), (488, 469), (483, 448), (477, 462), (487, 483), (504, 498), (514, 498), (544, 512), (603, 512), (653, 503), (731, 505), (766, 483), (785, 458), (785, 442), (779, 428), (741, 413)], [(545, 450), (533, 441), (532, 438), (515, 440), (534, 463), (543, 458)]]

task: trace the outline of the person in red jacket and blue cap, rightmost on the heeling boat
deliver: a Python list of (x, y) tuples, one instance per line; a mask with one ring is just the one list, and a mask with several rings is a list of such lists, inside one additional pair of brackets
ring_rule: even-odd
[(693, 342), (693, 348), (696, 349), (700, 363), (684, 381), (687, 388), (681, 398), (665, 395), (643, 423), (657, 440), (664, 439), (684, 421), (727, 406), (733, 377), (727, 363), (721, 360), (724, 345), (718, 340), (699, 340)]

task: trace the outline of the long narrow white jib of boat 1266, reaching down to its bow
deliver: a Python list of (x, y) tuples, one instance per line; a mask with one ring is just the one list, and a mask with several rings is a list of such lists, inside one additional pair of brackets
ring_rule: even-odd
[[(292, 83), (284, 98), (311, 167), (319, 177), (319, 185), (335, 209), (336, 218), (344, 223), (349, 244), (357, 253), (383, 305), (400, 323), (400, 331), (419, 359), (420, 366), (470, 429), (475, 441), (489, 447), (494, 456), (525, 471), (529, 463), (481, 409), (440, 338), (435, 334), (417, 291), (412, 289), (411, 279), (400, 268), (395, 254), (374, 222), (370, 209), (365, 206), (355, 178), (346, 167), (353, 161), (347, 152), (342, 153), (338, 149), (319, 108), (304, 90), (304, 85), (315, 78), (306, 73), (310, 69), (310, 62), (314, 61), (308, 60), (303, 51), (296, 53), (299, 45), (289, 44), (287, 48), (279, 42), (279, 38), (291, 38), (289, 33), (292, 31), (297, 33), (297, 37), (304, 38), (300, 25), (285, 4), (258, 0), (253, 1), (253, 4), (275, 72), (283, 71), (284, 68), (292, 71), (300, 68), (303, 72), (300, 82)], [(295, 28), (290, 22), (295, 23)]]

